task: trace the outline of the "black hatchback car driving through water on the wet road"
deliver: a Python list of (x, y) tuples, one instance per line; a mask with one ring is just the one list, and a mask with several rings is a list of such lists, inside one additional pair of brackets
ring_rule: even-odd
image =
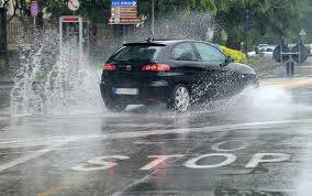
[(253, 68), (234, 63), (213, 44), (170, 40), (124, 44), (107, 61), (100, 88), (112, 111), (153, 102), (186, 111), (191, 104), (233, 96), (257, 84)]

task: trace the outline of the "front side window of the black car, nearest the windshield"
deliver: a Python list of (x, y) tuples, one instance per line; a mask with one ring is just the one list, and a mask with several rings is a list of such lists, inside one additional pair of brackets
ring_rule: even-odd
[(198, 53), (203, 62), (224, 63), (225, 56), (212, 45), (205, 43), (194, 43)]

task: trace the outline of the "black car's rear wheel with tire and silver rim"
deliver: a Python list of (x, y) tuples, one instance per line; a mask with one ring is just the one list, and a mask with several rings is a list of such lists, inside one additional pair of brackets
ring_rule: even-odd
[(190, 106), (190, 92), (185, 85), (178, 85), (171, 95), (169, 102), (167, 104), (169, 109), (176, 111), (187, 111)]

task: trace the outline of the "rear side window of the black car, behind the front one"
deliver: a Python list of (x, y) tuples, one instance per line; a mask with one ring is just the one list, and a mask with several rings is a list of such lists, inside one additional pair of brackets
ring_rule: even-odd
[(171, 56), (177, 61), (198, 61), (196, 52), (189, 43), (176, 45), (172, 50)]

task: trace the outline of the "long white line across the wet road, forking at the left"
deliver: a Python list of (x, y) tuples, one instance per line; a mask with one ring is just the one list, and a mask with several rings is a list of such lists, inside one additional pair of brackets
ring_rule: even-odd
[[(238, 129), (246, 129), (260, 126), (272, 126), (272, 124), (286, 124), (286, 123), (312, 123), (312, 119), (299, 119), (299, 120), (281, 120), (281, 121), (266, 121), (266, 122), (249, 122), (249, 123), (237, 123), (237, 124), (225, 124), (215, 127), (203, 127), (203, 128), (189, 128), (189, 129), (170, 129), (170, 130), (154, 130), (154, 131), (136, 131), (136, 132), (116, 132), (110, 134), (87, 134), (87, 135), (71, 135), (71, 137), (57, 137), (46, 138), (42, 140), (21, 140), (21, 141), (8, 141), (0, 142), (0, 149), (9, 148), (24, 148), (24, 146), (41, 146), (46, 145), (48, 148), (36, 151), (30, 155), (22, 156), (9, 163), (0, 165), (0, 172), (24, 163), (29, 160), (38, 157), (54, 149), (64, 145), (69, 142), (82, 142), (82, 141), (94, 141), (94, 140), (111, 140), (111, 139), (132, 139), (147, 135), (161, 135), (169, 133), (186, 134), (192, 132), (219, 132), (219, 131), (234, 131)], [(271, 130), (270, 130), (271, 131)], [(52, 145), (52, 146), (49, 146)]]

